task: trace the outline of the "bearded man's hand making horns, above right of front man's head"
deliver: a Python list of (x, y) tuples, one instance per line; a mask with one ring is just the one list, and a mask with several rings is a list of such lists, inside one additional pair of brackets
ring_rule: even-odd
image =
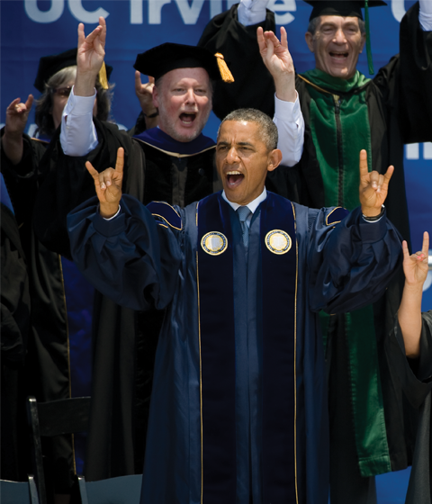
[(257, 40), (264, 64), (275, 80), (276, 96), (285, 102), (295, 102), (295, 70), (284, 26), (280, 41), (273, 31), (263, 31), (261, 27), (257, 29)]

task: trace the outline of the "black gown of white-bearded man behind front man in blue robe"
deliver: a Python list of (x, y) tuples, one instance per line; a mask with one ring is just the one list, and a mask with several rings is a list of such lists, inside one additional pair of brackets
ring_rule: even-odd
[[(125, 149), (123, 191), (140, 202), (162, 200), (184, 206), (219, 188), (214, 148), (183, 156), (160, 143), (152, 147), (148, 131), (142, 139), (132, 139), (113, 124), (97, 120), (94, 124), (99, 144), (85, 157), (65, 156), (58, 138), (51, 143), (35, 211), (35, 229), (49, 249), (70, 257), (67, 212), (94, 195), (85, 161), (103, 171), (115, 165), (119, 147)], [(132, 311), (100, 293), (95, 295), (92, 412), (85, 459), (88, 481), (142, 472), (153, 362), (163, 317), (163, 311), (152, 307)]]

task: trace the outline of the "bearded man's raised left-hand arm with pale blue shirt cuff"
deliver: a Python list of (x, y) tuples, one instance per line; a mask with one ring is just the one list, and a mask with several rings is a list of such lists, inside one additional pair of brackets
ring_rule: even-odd
[(97, 146), (93, 123), (94, 83), (105, 56), (106, 23), (99, 18), (99, 26), (85, 37), (84, 24), (78, 24), (76, 53), (76, 81), (67, 100), (61, 120), (60, 142), (67, 156), (85, 156)]

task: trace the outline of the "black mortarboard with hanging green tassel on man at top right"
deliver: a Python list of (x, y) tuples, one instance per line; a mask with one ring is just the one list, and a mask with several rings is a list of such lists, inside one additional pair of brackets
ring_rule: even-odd
[(365, 8), (366, 53), (369, 74), (374, 75), (372, 62), (371, 33), (369, 30), (369, 7), (387, 5), (383, 0), (304, 0), (313, 9), (309, 21), (320, 15), (340, 15), (343, 17), (358, 17), (363, 19), (362, 8)]

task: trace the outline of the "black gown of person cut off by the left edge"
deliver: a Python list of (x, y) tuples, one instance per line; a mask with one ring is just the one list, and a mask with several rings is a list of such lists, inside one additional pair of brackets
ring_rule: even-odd
[[(30, 332), (29, 275), (14, 209), (1, 188), (1, 464), (2, 480), (29, 470), (23, 364)], [(5, 201), (6, 200), (6, 201)]]

